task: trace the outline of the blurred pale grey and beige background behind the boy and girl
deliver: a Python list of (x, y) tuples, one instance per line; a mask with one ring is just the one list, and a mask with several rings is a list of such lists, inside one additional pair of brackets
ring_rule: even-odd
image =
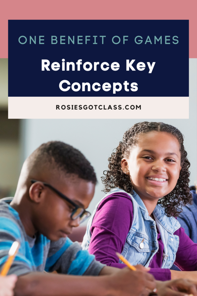
[[(190, 59), (190, 118), (154, 119), (176, 126), (185, 136), (185, 148), (191, 162), (191, 182), (196, 184), (196, 69), (197, 59)], [(79, 149), (95, 168), (98, 184), (89, 206), (104, 196), (100, 177), (108, 166), (108, 157), (122, 140), (123, 133), (134, 123), (133, 119), (8, 119), (8, 59), (0, 59), (0, 198), (14, 196), (20, 169), (25, 158), (40, 144), (60, 140)], [(162, 104), (165, 101), (161, 99)], [(170, 108), (170, 106), (169, 106)], [(176, 110), (174, 110), (176, 112)], [(152, 121), (149, 119), (144, 119)], [(87, 223), (87, 221), (85, 222)]]

